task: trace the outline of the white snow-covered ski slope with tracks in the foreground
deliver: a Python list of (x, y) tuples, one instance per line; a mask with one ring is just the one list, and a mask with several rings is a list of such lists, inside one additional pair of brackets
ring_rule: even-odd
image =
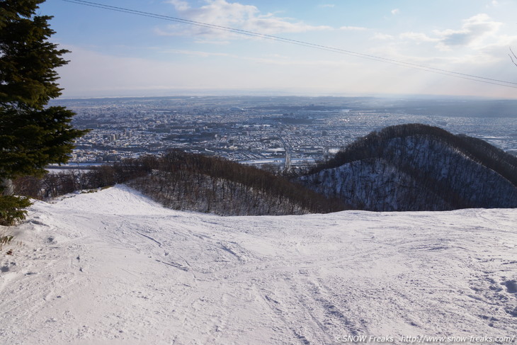
[(218, 217), (125, 186), (37, 202), (0, 251), (0, 343), (511, 337), (516, 224), (517, 209)]

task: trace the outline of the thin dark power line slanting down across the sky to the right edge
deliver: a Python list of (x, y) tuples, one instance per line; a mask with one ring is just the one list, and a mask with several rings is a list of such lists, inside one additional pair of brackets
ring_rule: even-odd
[(256, 37), (256, 38), (264, 38), (264, 39), (267, 39), (267, 40), (275, 40), (275, 41), (279, 41), (279, 42), (283, 42), (283, 43), (290, 43), (292, 45), (300, 45), (302, 47), (312, 47), (312, 48), (319, 49), (319, 50), (326, 50), (326, 51), (329, 51), (329, 52), (336, 52), (336, 53), (343, 54), (343, 55), (351, 55), (351, 56), (354, 56), (354, 57), (360, 57), (360, 58), (367, 59), (367, 60), (373, 60), (373, 61), (377, 61), (377, 62), (384, 62), (384, 63), (387, 63), (387, 64), (394, 64), (394, 65), (399, 66), (399, 67), (408, 67), (408, 68), (413, 68), (413, 69), (420, 69), (420, 70), (423, 70), (423, 71), (426, 71), (426, 72), (433, 72), (433, 73), (437, 73), (437, 74), (443, 74), (443, 75), (446, 75), (446, 76), (449, 76), (449, 77), (455, 77), (455, 78), (460, 78), (460, 79), (467, 79), (467, 80), (472, 80), (472, 81), (479, 81), (479, 82), (486, 83), (486, 84), (494, 84), (494, 85), (506, 86), (506, 87), (510, 87), (510, 88), (513, 88), (513, 89), (517, 89), (517, 83), (516, 82), (512, 82), (512, 81), (505, 81), (505, 80), (500, 80), (500, 79), (492, 79), (492, 78), (487, 78), (487, 77), (480, 77), (480, 76), (477, 76), (475, 74), (466, 74), (466, 73), (454, 72), (454, 71), (450, 71), (450, 70), (447, 70), (447, 69), (440, 69), (440, 68), (436, 68), (436, 67), (425, 66), (423, 64), (414, 64), (414, 63), (411, 63), (411, 62), (404, 62), (404, 61), (400, 61), (400, 60), (388, 59), (386, 57), (378, 57), (378, 56), (375, 56), (375, 55), (364, 54), (364, 53), (361, 53), (361, 52), (353, 52), (352, 50), (345, 50), (345, 49), (336, 48), (336, 47), (330, 47), (330, 46), (326, 46), (326, 45), (318, 45), (318, 44), (315, 44), (315, 43), (309, 43), (309, 42), (305, 42), (305, 41), (301, 41), (301, 40), (292, 40), (290, 38), (282, 38), (280, 36), (268, 35), (268, 34), (265, 34), (265, 33), (256, 33), (254, 31), (241, 30), (241, 29), (237, 29), (237, 28), (230, 28), (230, 27), (227, 27), (227, 26), (217, 26), (215, 24), (203, 23), (203, 22), (200, 22), (200, 21), (191, 21), (189, 19), (177, 18), (177, 17), (172, 17), (172, 16), (164, 16), (164, 15), (161, 15), (161, 14), (149, 13), (149, 12), (144, 12), (144, 11), (137, 11), (137, 10), (132, 10), (132, 9), (125, 9), (124, 7), (110, 6), (110, 5), (105, 5), (105, 4), (98, 4), (98, 3), (95, 3), (95, 2), (85, 1), (85, 0), (62, 0), (62, 1), (69, 2), (69, 3), (72, 3), (72, 4), (80, 4), (80, 5), (84, 5), (84, 6), (96, 7), (98, 9), (107, 9), (107, 10), (110, 10), (110, 11), (117, 11), (117, 12), (122, 12), (122, 13), (130, 13), (130, 14), (134, 14), (134, 15), (137, 15), (137, 16), (144, 16), (144, 17), (149, 17), (149, 18), (157, 18), (157, 19), (161, 19), (161, 20), (165, 20), (165, 21), (174, 21), (176, 23), (183, 23), (183, 24), (188, 24), (188, 25), (191, 25), (191, 26), (199, 26), (199, 27), (202, 27), (202, 28), (211, 28), (211, 29), (215, 29), (215, 30), (226, 31), (226, 32), (229, 32), (229, 33), (237, 33), (239, 35), (246, 35), (246, 36)]

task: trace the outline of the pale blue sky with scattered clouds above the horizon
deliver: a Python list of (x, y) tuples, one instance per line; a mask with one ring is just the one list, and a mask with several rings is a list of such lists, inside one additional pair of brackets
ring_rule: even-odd
[(517, 98), (517, 84), (489, 80), (517, 83), (517, 66), (509, 57), (511, 47), (517, 52), (513, 0), (93, 1), (309, 45), (47, 0), (38, 13), (54, 16), (51, 41), (72, 51), (69, 64), (59, 69), (64, 97)]

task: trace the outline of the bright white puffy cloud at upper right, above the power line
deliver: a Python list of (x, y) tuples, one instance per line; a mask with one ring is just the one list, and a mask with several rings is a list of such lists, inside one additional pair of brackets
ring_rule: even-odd
[(485, 13), (477, 14), (465, 19), (460, 30), (434, 31), (435, 35), (440, 38), (437, 47), (441, 50), (450, 50), (455, 46), (475, 47), (482, 43), (484, 38), (496, 34), (501, 25), (502, 23), (493, 21)]

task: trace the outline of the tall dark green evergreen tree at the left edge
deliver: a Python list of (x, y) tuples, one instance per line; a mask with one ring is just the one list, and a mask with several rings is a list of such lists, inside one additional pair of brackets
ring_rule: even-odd
[[(68, 51), (48, 41), (54, 33), (48, 24), (52, 17), (36, 14), (44, 1), (0, 1), (0, 192), (4, 196), (12, 193), (11, 179), (40, 176), (47, 164), (67, 162), (74, 140), (85, 132), (72, 127), (72, 111), (47, 107), (61, 94), (55, 69), (67, 64), (62, 55)], [(8, 200), (9, 205), (26, 207), (21, 198)], [(5, 222), (1, 218), (6, 218), (6, 201), (0, 203), (4, 206), (0, 223)]]

